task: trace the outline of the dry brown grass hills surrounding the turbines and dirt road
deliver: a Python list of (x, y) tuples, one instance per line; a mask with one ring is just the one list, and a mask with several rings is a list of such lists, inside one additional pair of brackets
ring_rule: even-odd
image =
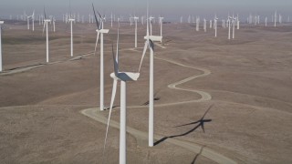
[[(26, 23), (5, 22), (0, 74), (0, 163), (102, 163), (106, 126), (80, 113), (99, 108), (99, 46), (94, 51), (94, 24), (74, 25), (74, 56), (69, 56), (69, 28), (57, 22), (46, 36), (26, 30)], [(106, 24), (110, 27), (110, 24)], [(138, 71), (146, 26), (120, 27), (120, 70)], [(156, 139), (128, 133), (128, 163), (216, 163), (204, 149), (237, 163), (292, 163), (292, 27), (247, 26), (227, 39), (227, 29), (207, 33), (187, 24), (163, 25), (163, 42), (155, 46), (154, 127)], [(158, 24), (153, 34), (159, 35)], [(113, 71), (111, 44), (117, 25), (105, 35), (105, 104), (110, 106)], [(162, 48), (164, 46), (165, 48)], [(183, 65), (183, 66), (180, 66)], [(39, 66), (39, 67), (32, 67)], [(26, 70), (26, 68), (29, 68)], [(31, 68), (31, 69), (30, 69)], [(176, 87), (168, 85), (210, 71)], [(5, 73), (10, 73), (5, 75)], [(127, 126), (148, 131), (149, 53), (141, 77), (127, 86)], [(196, 101), (208, 93), (210, 100)], [(118, 89), (115, 106), (120, 105)], [(138, 108), (135, 108), (138, 107)], [(209, 109), (209, 110), (208, 110)], [(107, 117), (109, 110), (99, 112)], [(194, 123), (203, 117), (203, 128)], [(120, 119), (114, 108), (112, 120)], [(110, 128), (105, 163), (119, 162), (119, 129)], [(172, 144), (195, 144), (200, 151)], [(190, 146), (191, 147), (191, 146)], [(224, 161), (223, 161), (224, 163)]]

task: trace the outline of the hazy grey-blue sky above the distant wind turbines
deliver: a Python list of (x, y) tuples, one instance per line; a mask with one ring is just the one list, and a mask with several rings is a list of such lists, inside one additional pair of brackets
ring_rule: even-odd
[[(141, 0), (71, 0), (72, 12), (80, 15), (91, 13), (91, 3), (94, 3), (100, 13), (110, 15), (144, 15), (147, 1)], [(227, 15), (239, 13), (247, 15), (272, 15), (277, 10), (282, 15), (292, 15), (292, 0), (149, 0), (151, 13), (164, 17), (179, 17), (181, 15)], [(46, 5), (48, 15), (62, 15), (68, 12), (69, 0), (1, 0), (0, 16), (20, 15), (24, 11), (42, 13)]]

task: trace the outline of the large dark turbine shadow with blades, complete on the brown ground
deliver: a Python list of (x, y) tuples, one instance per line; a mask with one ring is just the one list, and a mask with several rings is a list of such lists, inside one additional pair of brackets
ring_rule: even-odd
[(178, 137), (183, 137), (183, 136), (186, 136), (190, 133), (192, 133), (194, 130), (196, 130), (197, 128), (201, 127), (203, 129), (203, 132), (204, 132), (204, 127), (203, 127), (203, 124), (205, 122), (211, 122), (212, 119), (204, 119), (204, 117), (206, 116), (206, 114), (209, 112), (209, 110), (211, 108), (213, 108), (214, 105), (210, 106), (206, 111), (205, 113), (203, 114), (203, 117), (197, 121), (194, 121), (194, 122), (191, 122), (191, 123), (188, 123), (188, 124), (183, 124), (183, 125), (180, 125), (180, 126), (177, 126), (177, 127), (174, 127), (174, 128), (179, 128), (179, 127), (185, 127), (185, 126), (189, 126), (189, 125), (194, 125), (194, 124), (197, 124), (195, 127), (193, 127), (192, 129), (190, 129), (189, 131), (186, 131), (184, 132), (183, 134), (179, 134), (179, 135), (172, 135), (172, 136), (168, 136), (168, 137), (164, 137), (164, 138), (161, 138), (160, 140), (156, 141), (154, 143), (154, 145), (158, 145), (160, 143), (162, 143), (163, 141), (165, 141), (166, 139), (168, 138), (178, 138)]

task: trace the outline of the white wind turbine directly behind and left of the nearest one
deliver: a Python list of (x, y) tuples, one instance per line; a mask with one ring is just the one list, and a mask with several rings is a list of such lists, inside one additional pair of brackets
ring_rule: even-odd
[(100, 18), (100, 24), (99, 24), (99, 20), (98, 20), (98, 17), (96, 15), (93, 4), (92, 4), (92, 8), (93, 8), (94, 16), (95, 16), (95, 21), (96, 21), (97, 27), (98, 27), (98, 29), (96, 30), (98, 33), (98, 36), (97, 36), (97, 42), (95, 44), (95, 50), (94, 50), (95, 53), (97, 51), (97, 46), (98, 46), (98, 42), (99, 42), (99, 34), (100, 34), (100, 97), (99, 97), (100, 101), (99, 101), (99, 108), (100, 108), (100, 110), (104, 110), (103, 34), (108, 34), (110, 30), (103, 29), (104, 17), (102, 17), (98, 12), (99, 18)]

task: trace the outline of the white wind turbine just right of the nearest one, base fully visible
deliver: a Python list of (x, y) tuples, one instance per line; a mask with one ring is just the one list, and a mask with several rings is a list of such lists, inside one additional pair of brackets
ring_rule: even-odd
[[(147, 32), (146, 36), (144, 36), (145, 46), (143, 49), (143, 55), (142, 59), (146, 54), (146, 50), (149, 47), (150, 48), (150, 88), (149, 88), (149, 146), (153, 147), (154, 144), (154, 95), (153, 95), (153, 89), (154, 89), (154, 43), (153, 42), (161, 42), (162, 36), (152, 36), (149, 35), (149, 24), (151, 24), (151, 19), (148, 19), (148, 5), (147, 5)], [(142, 62), (142, 60), (141, 60)], [(139, 67), (139, 72), (141, 69), (141, 65)]]

